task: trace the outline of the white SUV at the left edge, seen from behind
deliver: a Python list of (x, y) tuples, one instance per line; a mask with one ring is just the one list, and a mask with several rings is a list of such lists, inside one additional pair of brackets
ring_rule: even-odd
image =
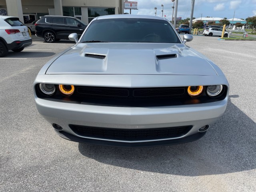
[(8, 50), (20, 52), (31, 44), (28, 27), (19, 18), (0, 16), (0, 57), (6, 56)]

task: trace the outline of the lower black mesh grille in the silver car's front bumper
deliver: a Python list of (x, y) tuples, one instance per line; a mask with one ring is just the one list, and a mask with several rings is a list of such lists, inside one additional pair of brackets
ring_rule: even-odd
[(79, 136), (124, 141), (176, 138), (185, 135), (192, 128), (192, 126), (179, 126), (149, 129), (116, 129), (79, 125), (69, 126)]

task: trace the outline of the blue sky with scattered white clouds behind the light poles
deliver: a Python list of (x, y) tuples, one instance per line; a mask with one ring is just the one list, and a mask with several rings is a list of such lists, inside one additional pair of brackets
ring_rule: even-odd
[[(134, 1), (138, 2), (138, 10), (131, 10), (132, 14), (155, 15), (156, 11), (156, 16), (162, 16), (161, 10), (164, 8), (163, 16), (172, 20), (173, 2), (171, 0)], [(157, 10), (154, 10), (155, 7)], [(191, 7), (192, 0), (178, 0), (177, 17), (190, 18)], [(130, 10), (125, 9), (124, 12), (130, 13)], [(246, 19), (256, 16), (256, 0), (195, 0), (193, 17), (201, 18), (201, 15), (202, 17), (226, 17), (227, 19), (234, 16), (234, 18)]]

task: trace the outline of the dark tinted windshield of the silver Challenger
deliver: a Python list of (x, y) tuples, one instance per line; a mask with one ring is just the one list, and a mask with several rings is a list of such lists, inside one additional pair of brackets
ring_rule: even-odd
[(181, 43), (166, 20), (118, 18), (94, 20), (80, 42)]

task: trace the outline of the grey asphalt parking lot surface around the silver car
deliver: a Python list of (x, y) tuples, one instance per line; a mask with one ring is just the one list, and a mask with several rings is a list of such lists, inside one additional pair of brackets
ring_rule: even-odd
[(200, 140), (154, 148), (64, 140), (38, 114), (33, 81), (74, 42), (33, 36), (0, 58), (0, 191), (256, 191), (256, 42), (194, 36), (186, 44), (222, 69), (228, 106)]

